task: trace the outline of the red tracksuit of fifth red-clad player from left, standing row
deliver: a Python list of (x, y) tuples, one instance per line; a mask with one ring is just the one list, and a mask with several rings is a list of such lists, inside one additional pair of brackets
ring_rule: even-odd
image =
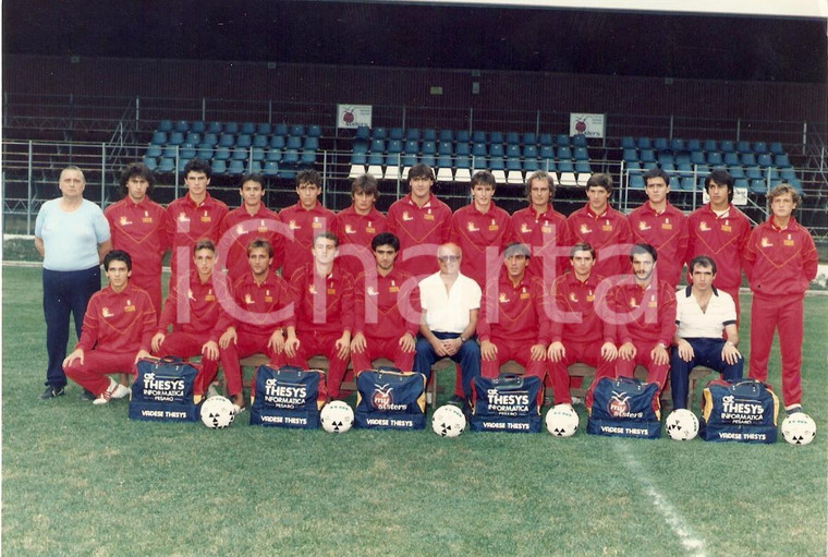
[(339, 238), (337, 261), (342, 268), (354, 277), (360, 273), (370, 273), (376, 268), (377, 263), (370, 251), (370, 241), (375, 235), (386, 231), (388, 231), (388, 219), (374, 207), (367, 215), (357, 214), (353, 205), (340, 210), (337, 214), (334, 233)]

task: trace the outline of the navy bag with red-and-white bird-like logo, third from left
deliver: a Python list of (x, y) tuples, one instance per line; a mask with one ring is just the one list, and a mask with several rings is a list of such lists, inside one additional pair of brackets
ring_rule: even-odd
[(354, 426), (373, 429), (423, 429), (426, 426), (426, 376), (395, 367), (356, 374)]

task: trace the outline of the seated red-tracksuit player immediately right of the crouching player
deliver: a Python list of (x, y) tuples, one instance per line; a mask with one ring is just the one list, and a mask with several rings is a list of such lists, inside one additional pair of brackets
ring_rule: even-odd
[[(193, 385), (193, 400), (197, 404), (218, 373), (219, 337), (227, 330), (230, 319), (221, 312), (212, 283), (216, 245), (211, 240), (203, 239), (196, 242), (193, 249), (193, 264), (195, 268), (187, 275), (179, 273), (167, 296), (157, 332), (153, 337), (153, 354), (202, 356), (198, 375)], [(179, 308), (179, 305), (182, 307)], [(170, 326), (172, 332), (168, 334)], [(241, 391), (241, 387), (229, 386), (228, 389), (233, 392)]]

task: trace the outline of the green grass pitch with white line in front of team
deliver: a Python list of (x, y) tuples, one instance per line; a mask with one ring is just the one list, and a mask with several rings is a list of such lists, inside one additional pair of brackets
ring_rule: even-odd
[[(39, 276), (3, 268), (4, 555), (826, 553), (828, 298), (805, 304), (809, 446), (594, 437), (580, 407), (569, 439), (443, 439), (251, 427), (247, 414), (223, 431), (131, 422), (125, 400), (82, 403), (76, 385), (36, 402)], [(746, 351), (750, 296), (742, 307)]]

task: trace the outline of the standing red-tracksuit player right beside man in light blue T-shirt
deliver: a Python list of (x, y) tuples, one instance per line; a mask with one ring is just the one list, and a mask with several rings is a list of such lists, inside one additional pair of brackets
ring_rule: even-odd
[(149, 198), (153, 172), (143, 162), (121, 172), (123, 198), (104, 211), (112, 233), (112, 247), (132, 257), (130, 281), (149, 294), (156, 314), (161, 312), (161, 258), (170, 247), (167, 211)]

